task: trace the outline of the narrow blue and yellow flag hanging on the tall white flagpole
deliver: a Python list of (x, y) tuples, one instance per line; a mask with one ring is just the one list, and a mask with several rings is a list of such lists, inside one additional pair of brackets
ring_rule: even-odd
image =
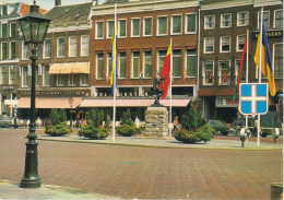
[[(111, 38), (111, 74), (110, 74), (110, 84), (111, 84), (111, 94), (115, 94), (114, 89), (114, 80), (116, 80), (117, 74), (115, 74), (115, 68), (117, 69), (117, 31), (115, 31), (115, 27), (113, 28), (113, 38)], [(117, 72), (117, 70), (116, 70)]]

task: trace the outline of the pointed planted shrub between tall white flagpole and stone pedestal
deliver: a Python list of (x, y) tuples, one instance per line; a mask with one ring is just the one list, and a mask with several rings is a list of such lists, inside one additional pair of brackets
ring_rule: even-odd
[(133, 134), (139, 134), (142, 132), (141, 128), (138, 128), (133, 125), (129, 108), (126, 113), (123, 113), (120, 126), (116, 127), (116, 131), (119, 136), (122, 137), (131, 137)]

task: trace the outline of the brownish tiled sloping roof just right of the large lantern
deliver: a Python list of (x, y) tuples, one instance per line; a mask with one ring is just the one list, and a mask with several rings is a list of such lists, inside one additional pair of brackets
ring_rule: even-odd
[(69, 23), (88, 20), (92, 2), (54, 7), (45, 15), (52, 21), (50, 24)]

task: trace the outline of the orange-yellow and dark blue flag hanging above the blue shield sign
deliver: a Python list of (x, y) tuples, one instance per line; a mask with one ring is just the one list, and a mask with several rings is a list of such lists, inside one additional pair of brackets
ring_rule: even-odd
[[(275, 82), (274, 82), (274, 75), (272, 71), (272, 62), (271, 62), (271, 56), (270, 56), (270, 50), (269, 50), (269, 42), (267, 37), (267, 32), (265, 32), (265, 26), (264, 26), (264, 21), (262, 20), (262, 42), (260, 42), (260, 35), (258, 38), (258, 46), (256, 50), (256, 56), (255, 56), (255, 62), (256, 64), (261, 69), (261, 72), (265, 78), (269, 80), (269, 91), (271, 96), (275, 96), (276, 94), (276, 89), (275, 89)], [(260, 66), (260, 51), (262, 51), (262, 58), (261, 58), (261, 66)]]

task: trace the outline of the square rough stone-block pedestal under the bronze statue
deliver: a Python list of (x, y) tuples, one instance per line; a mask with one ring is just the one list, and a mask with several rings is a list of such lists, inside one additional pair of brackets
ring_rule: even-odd
[(145, 111), (145, 137), (168, 137), (168, 111), (166, 107), (147, 107)]

